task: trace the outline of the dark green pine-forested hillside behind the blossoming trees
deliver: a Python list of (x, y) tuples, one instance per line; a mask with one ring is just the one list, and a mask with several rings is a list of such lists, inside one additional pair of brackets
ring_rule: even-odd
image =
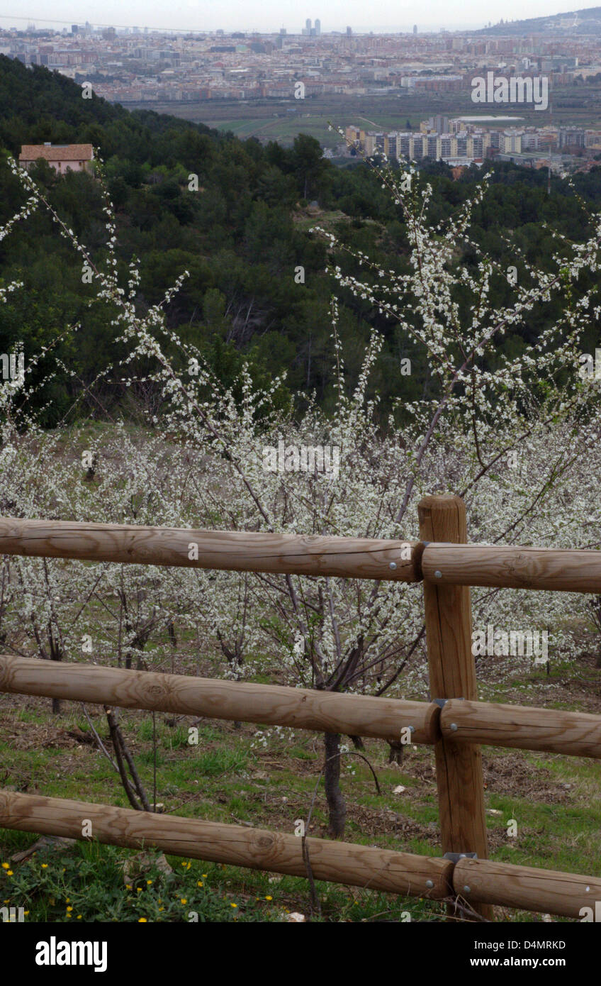
[[(0, 56), (0, 226), (26, 201), (7, 165), (9, 155), (18, 158), (22, 144), (44, 141), (92, 143), (99, 150), (117, 213), (124, 282), (126, 263), (132, 256), (141, 260), (138, 304), (156, 304), (187, 270), (189, 277), (169, 304), (168, 324), (201, 349), (222, 381), (232, 381), (247, 360), (257, 382), (286, 371), (289, 395), (315, 390), (317, 400), (330, 405), (334, 280), (326, 271), (327, 244), (309, 232), (311, 227), (335, 233), (340, 245), (367, 253), (383, 269), (403, 273), (408, 265), (400, 210), (367, 164), (336, 168), (306, 136), (289, 150), (275, 143), (262, 147), (254, 139), (240, 141), (152, 111), (130, 113), (96, 97), (85, 100), (64, 77)], [(575, 191), (568, 181), (554, 178), (551, 194), (544, 173), (508, 165), (484, 170), (493, 170), (491, 187), (476, 209), (472, 236), (501, 269), (516, 267), (518, 280), (527, 276), (529, 262), (545, 268), (557, 246), (554, 230), (575, 241), (590, 233), (575, 191), (584, 203), (598, 205), (601, 169), (576, 176)], [(195, 184), (190, 176), (197, 176), (198, 190), (190, 190)], [(473, 193), (481, 176), (472, 169), (453, 180), (446, 166), (431, 163), (420, 170), (415, 193), (422, 194), (427, 181), (433, 184), (429, 218), (435, 224)], [(33, 177), (67, 227), (101, 262), (105, 217), (99, 180), (82, 174), (57, 177), (46, 165), (37, 166)], [(310, 205), (315, 202), (318, 208)], [(359, 271), (344, 248), (329, 253), (330, 263), (343, 273)], [(474, 256), (469, 245), (457, 245), (457, 264), (469, 268)], [(299, 268), (304, 283), (297, 283)], [(370, 276), (365, 268), (362, 276)], [(92, 386), (104, 407), (121, 400), (122, 389), (108, 378), (95, 383), (107, 362), (118, 359), (118, 331), (111, 328), (105, 308), (90, 304), (93, 289), (83, 283), (81, 264), (45, 210), (18, 224), (0, 244), (0, 287), (14, 280), (22, 281), (24, 289), (0, 306), (0, 352), (22, 342), (27, 357), (51, 343), (53, 354), (76, 370), (76, 377), (56, 372), (53, 355), (48, 379), (44, 360), (37, 364), (40, 405), (52, 402), (45, 420), (58, 420), (84, 387)], [(583, 274), (575, 295), (586, 287)], [(496, 274), (491, 303), (505, 304), (511, 290)], [(393, 319), (367, 299), (344, 289), (339, 295), (349, 384), (358, 378), (370, 328), (376, 327), (384, 344), (370, 387), (381, 395), (382, 406), (435, 388), (419, 348), (406, 349)], [(461, 306), (461, 297), (457, 302)], [(503, 348), (520, 352), (523, 342), (532, 342), (555, 317), (553, 303), (535, 308), (527, 329), (508, 330)], [(73, 323), (81, 325), (77, 342), (68, 331)], [(591, 321), (591, 348), (597, 338)], [(411, 373), (401, 375), (400, 361), (407, 357)]]

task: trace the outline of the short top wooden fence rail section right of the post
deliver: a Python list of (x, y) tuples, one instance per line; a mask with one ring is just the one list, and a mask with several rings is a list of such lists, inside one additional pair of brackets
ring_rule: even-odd
[(422, 555), (422, 572), (437, 585), (601, 593), (601, 551), (433, 541)]

